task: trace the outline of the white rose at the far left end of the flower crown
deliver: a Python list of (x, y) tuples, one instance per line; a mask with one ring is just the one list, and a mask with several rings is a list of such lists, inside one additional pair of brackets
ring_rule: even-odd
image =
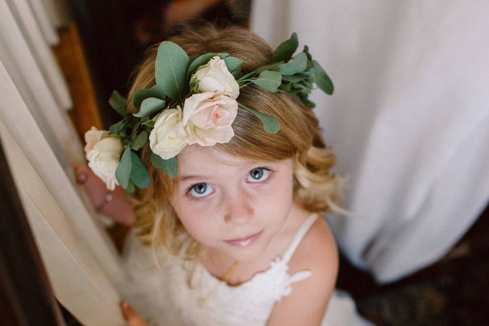
[(87, 152), (88, 166), (109, 190), (119, 185), (115, 173), (123, 149), (120, 139), (108, 136), (96, 142)]

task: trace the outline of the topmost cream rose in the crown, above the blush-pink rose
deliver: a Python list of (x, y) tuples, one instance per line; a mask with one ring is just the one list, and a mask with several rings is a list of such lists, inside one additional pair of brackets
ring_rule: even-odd
[(199, 83), (200, 93), (218, 92), (232, 98), (237, 98), (239, 95), (239, 85), (236, 79), (229, 72), (224, 60), (218, 56), (197, 69), (195, 77)]

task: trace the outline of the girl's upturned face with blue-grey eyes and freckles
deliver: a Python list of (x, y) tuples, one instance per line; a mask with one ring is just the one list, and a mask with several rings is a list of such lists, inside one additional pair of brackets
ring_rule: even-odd
[(292, 158), (246, 160), (212, 147), (186, 146), (171, 204), (187, 232), (211, 253), (258, 258), (293, 205)]

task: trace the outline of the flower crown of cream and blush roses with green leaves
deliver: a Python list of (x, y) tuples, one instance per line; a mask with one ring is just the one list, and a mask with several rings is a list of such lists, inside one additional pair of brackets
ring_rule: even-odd
[(269, 92), (288, 93), (309, 108), (315, 105), (308, 100), (313, 84), (333, 94), (331, 79), (312, 60), (307, 46), (293, 56), (297, 46), (293, 33), (277, 47), (268, 65), (243, 74), (243, 60), (228, 53), (205, 53), (191, 60), (177, 44), (162, 42), (155, 61), (156, 85), (135, 91), (132, 99), (140, 111), (129, 115), (127, 100), (114, 91), (109, 103), (123, 119), (108, 131), (92, 127), (85, 133), (89, 167), (107, 189), (120, 184), (129, 196), (135, 186), (149, 186), (148, 172), (137, 154), (148, 139), (151, 163), (173, 178), (176, 155), (186, 145), (213, 146), (231, 140), (238, 106), (260, 119), (265, 131), (276, 133), (280, 124), (275, 117), (236, 99), (239, 90), (251, 84)]

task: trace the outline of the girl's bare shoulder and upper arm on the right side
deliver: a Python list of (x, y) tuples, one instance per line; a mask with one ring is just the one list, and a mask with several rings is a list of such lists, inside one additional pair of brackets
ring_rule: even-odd
[(290, 274), (310, 269), (312, 275), (292, 284), (292, 294), (275, 304), (268, 326), (320, 325), (338, 274), (338, 251), (323, 219), (311, 227), (289, 266)]

